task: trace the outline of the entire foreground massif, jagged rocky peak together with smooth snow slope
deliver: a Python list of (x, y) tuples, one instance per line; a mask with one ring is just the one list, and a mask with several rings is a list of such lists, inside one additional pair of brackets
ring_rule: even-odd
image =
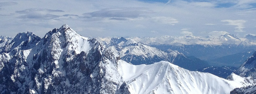
[(0, 45), (1, 94), (229, 94), (243, 86), (166, 61), (131, 65), (67, 25), (43, 38), (28, 32)]

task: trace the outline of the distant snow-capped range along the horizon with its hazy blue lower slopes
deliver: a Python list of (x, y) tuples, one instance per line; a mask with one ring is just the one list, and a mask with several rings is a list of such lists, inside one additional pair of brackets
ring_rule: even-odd
[[(99, 38), (109, 43), (110, 37)], [(256, 48), (256, 36), (248, 34), (244, 37), (234, 34), (221, 36), (181, 36), (181, 37), (132, 37), (134, 41), (155, 47), (164, 52), (177, 50), (185, 56), (195, 56), (209, 62), (211, 66), (239, 67), (249, 58)]]

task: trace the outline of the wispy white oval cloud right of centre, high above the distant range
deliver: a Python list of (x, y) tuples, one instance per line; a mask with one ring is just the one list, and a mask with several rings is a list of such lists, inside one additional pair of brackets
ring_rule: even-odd
[(169, 25), (175, 25), (174, 23), (178, 23), (179, 21), (175, 18), (172, 17), (153, 17), (155, 22), (161, 22), (164, 24), (169, 24)]

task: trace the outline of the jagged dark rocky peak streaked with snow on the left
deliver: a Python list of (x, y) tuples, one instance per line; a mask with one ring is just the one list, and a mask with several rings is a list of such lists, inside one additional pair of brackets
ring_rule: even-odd
[[(106, 64), (117, 70), (116, 56), (96, 39), (78, 35), (67, 25), (42, 39), (19, 33), (0, 54), (1, 93), (115, 93)], [(84, 83), (81, 83), (84, 82)]]

